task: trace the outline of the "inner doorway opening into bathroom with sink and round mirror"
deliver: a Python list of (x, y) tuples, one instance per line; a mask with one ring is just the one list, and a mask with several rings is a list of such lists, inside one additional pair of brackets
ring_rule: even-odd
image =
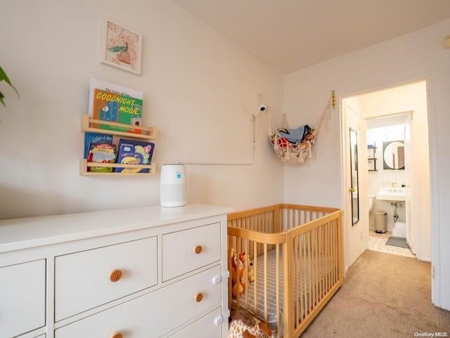
[(368, 249), (416, 257), (410, 196), (406, 202), (406, 182), (411, 183), (412, 118), (413, 112), (405, 112), (366, 119), (371, 205)]

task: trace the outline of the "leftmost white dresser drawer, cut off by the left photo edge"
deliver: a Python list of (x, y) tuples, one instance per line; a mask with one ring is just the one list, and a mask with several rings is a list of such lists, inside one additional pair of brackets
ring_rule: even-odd
[(0, 268), (0, 337), (45, 325), (45, 260)]

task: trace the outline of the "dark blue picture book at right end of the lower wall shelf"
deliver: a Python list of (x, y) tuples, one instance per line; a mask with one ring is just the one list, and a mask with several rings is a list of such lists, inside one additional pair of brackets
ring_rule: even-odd
[[(151, 164), (155, 144), (134, 140), (123, 140), (117, 145), (117, 163)], [(148, 173), (149, 169), (115, 168), (118, 173)]]

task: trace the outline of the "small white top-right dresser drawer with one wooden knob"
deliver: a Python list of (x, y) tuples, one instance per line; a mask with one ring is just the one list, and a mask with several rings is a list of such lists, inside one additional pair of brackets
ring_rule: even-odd
[(162, 235), (162, 280), (219, 261), (220, 243), (220, 223)]

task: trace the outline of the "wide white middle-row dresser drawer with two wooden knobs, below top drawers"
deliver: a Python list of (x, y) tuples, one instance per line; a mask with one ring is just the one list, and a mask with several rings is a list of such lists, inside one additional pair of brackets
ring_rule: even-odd
[[(212, 282), (216, 275), (220, 275), (220, 266), (60, 327), (55, 337), (113, 337), (114, 332), (130, 338), (160, 337), (200, 313), (221, 305), (221, 282)], [(195, 296), (199, 293), (203, 294), (203, 299), (196, 301)], [(216, 336), (200, 334), (193, 337)]]

